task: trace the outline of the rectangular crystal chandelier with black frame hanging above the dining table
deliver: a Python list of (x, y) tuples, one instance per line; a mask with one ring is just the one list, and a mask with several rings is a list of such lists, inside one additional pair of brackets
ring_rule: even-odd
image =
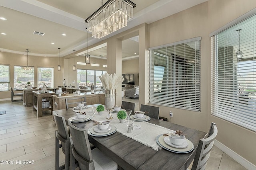
[(130, 0), (108, 0), (85, 20), (92, 37), (102, 38), (127, 25), (136, 4)]

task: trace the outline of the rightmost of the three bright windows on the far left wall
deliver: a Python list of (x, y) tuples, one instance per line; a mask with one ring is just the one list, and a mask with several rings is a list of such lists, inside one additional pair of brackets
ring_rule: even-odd
[(54, 68), (38, 67), (38, 88), (54, 88)]

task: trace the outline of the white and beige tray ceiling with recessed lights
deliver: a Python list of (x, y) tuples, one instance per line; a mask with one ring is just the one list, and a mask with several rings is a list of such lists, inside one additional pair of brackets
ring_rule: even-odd
[[(128, 25), (102, 39), (93, 38), (89, 33), (88, 44), (92, 45), (141, 23), (152, 23), (206, 1), (132, 0), (136, 7)], [(106, 2), (103, 0), (103, 3)], [(101, 0), (1, 0), (0, 17), (7, 20), (0, 20), (0, 33), (6, 33), (0, 34), (0, 50), (26, 54), (26, 49), (29, 49), (30, 55), (58, 57), (58, 48), (61, 48), (60, 57), (73, 54), (73, 50), (87, 47), (84, 20), (100, 6)], [(34, 31), (45, 35), (35, 35)], [(123, 41), (123, 58), (138, 55), (136, 39), (138, 37)], [(106, 47), (91, 51), (90, 55), (106, 57)]]

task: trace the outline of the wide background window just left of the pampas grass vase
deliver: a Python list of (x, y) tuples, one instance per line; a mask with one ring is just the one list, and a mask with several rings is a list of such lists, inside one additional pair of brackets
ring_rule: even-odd
[(97, 88), (102, 87), (99, 76), (105, 74), (106, 71), (100, 70), (81, 70), (77, 69), (77, 82), (79, 86), (91, 86), (93, 83)]

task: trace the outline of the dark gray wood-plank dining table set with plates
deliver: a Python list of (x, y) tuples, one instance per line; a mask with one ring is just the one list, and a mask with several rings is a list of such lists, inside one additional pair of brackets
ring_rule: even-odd
[[(87, 106), (90, 108), (91, 106), (97, 107), (99, 104), (90, 105)], [(88, 112), (89, 109), (87, 109)], [(76, 111), (73, 108), (69, 109), (61, 109), (53, 111), (53, 113), (56, 113), (58, 115), (62, 115), (65, 118), (66, 124), (68, 125), (68, 120), (71, 119), (71, 117), (76, 116)], [(86, 114), (90, 115), (86, 112)], [(114, 115), (115, 113), (112, 113)], [(96, 112), (96, 115), (98, 115), (98, 112)], [(102, 115), (102, 120), (108, 121), (106, 119), (108, 113), (106, 111), (105, 114)], [(116, 116), (113, 116), (114, 119), (117, 119)], [(93, 117), (91, 117), (93, 119)], [(79, 122), (79, 123), (72, 123), (76, 127), (80, 129), (85, 129), (88, 131), (88, 129), (92, 129), (92, 127), (95, 125), (94, 121), (92, 119), (85, 121), (85, 122)], [(117, 121), (117, 120), (116, 120)], [(202, 138), (205, 138), (207, 133), (203, 131), (199, 131), (196, 129), (192, 129), (189, 127), (185, 127), (182, 125), (177, 125), (174, 123), (170, 123), (168, 121), (163, 121), (159, 119), (150, 118), (150, 120), (147, 121), (147, 125), (151, 125), (151, 129), (148, 128), (147, 131), (152, 131), (153, 139), (155, 141), (152, 141), (153, 143), (157, 143), (157, 139), (162, 136), (162, 132), (159, 131), (159, 134), (156, 134), (154, 136), (154, 133), (156, 133), (157, 128), (166, 129), (167, 131), (176, 131), (180, 130), (183, 132), (183, 134), (186, 134), (186, 139), (189, 140), (189, 143), (191, 145), (194, 145), (192, 150), (189, 152), (172, 152), (168, 149), (164, 149), (164, 147), (158, 146), (158, 148), (152, 148), (149, 146), (146, 146), (143, 142), (140, 140), (132, 139), (131, 137), (128, 137), (122, 132), (116, 131), (115, 133), (112, 133), (108, 136), (94, 136), (90, 135), (88, 133), (88, 139), (90, 143), (92, 143), (95, 147), (97, 147), (99, 150), (101, 150), (104, 154), (112, 158), (120, 169), (124, 170), (186, 170), (188, 166), (191, 164), (192, 160), (194, 159), (194, 156), (196, 154), (196, 150), (198, 148), (199, 140)], [(134, 122), (138, 123), (138, 122)], [(141, 123), (141, 122), (139, 122)], [(124, 128), (128, 128), (126, 126), (126, 123), (122, 123)], [(110, 124), (111, 125), (111, 124)], [(117, 125), (117, 124), (116, 124)], [(121, 125), (121, 124), (120, 124)], [(120, 126), (118, 124), (118, 126)], [(142, 124), (143, 127), (144, 124)], [(145, 129), (141, 129), (140, 131), (143, 132)], [(132, 130), (134, 131), (134, 130)], [(135, 131), (134, 131), (135, 132)], [(137, 132), (137, 131), (136, 131)], [(155, 145), (155, 144), (154, 144)]]

